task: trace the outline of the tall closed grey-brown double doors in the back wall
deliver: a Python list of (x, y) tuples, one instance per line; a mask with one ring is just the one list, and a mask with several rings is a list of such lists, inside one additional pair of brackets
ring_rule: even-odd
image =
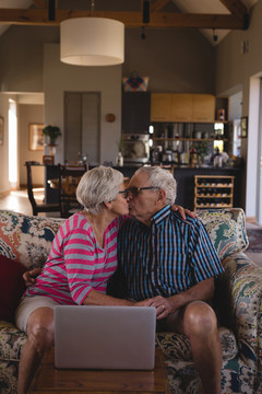
[(64, 92), (64, 161), (100, 162), (100, 93)]

